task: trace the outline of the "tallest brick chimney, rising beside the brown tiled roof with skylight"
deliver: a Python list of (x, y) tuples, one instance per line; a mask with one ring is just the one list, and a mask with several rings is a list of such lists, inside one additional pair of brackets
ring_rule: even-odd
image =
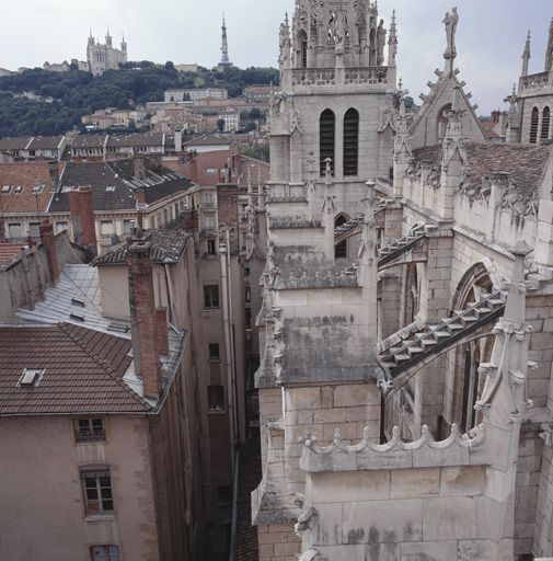
[(158, 399), (162, 388), (151, 251), (149, 238), (129, 240), (127, 268), (135, 371), (142, 378), (145, 397)]

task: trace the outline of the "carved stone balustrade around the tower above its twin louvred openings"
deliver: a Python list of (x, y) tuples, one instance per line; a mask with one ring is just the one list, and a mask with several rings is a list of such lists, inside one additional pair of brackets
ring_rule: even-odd
[(387, 85), (388, 67), (370, 68), (296, 68), (292, 85)]

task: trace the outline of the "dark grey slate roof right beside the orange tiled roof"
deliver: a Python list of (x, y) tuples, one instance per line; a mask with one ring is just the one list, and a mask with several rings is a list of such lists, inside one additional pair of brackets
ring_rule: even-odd
[(192, 183), (181, 173), (168, 168), (147, 169), (146, 179), (134, 178), (134, 160), (113, 162), (68, 162), (61, 178), (61, 190), (51, 199), (51, 213), (69, 211), (69, 191), (79, 186), (92, 187), (94, 210), (135, 210), (136, 191), (145, 190), (146, 203), (151, 205), (165, 197), (187, 191)]

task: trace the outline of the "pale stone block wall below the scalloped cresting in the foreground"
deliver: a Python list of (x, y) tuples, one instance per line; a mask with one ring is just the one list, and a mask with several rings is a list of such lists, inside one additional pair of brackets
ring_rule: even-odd
[(303, 537), (325, 559), (492, 561), (484, 489), (481, 467), (308, 474)]

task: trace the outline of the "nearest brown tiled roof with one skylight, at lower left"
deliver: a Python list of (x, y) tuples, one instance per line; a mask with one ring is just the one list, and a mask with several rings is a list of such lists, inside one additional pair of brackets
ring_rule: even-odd
[[(130, 341), (85, 328), (0, 328), (0, 415), (142, 413), (151, 407), (124, 381)], [(22, 387), (25, 368), (44, 369)]]

